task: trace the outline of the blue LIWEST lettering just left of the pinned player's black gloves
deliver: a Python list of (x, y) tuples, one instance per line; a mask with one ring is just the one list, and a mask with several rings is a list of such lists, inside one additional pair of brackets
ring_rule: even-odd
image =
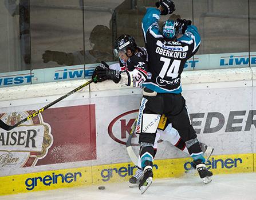
[(84, 68), (80, 69), (64, 69), (64, 70), (57, 70), (54, 74), (54, 80), (58, 79), (76, 79), (81, 77), (91, 77), (93, 74), (94, 69), (84, 70)]

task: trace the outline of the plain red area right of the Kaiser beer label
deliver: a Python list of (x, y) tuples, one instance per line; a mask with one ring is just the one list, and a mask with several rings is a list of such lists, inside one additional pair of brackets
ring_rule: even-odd
[(42, 115), (54, 140), (37, 165), (96, 159), (95, 105), (49, 109)]

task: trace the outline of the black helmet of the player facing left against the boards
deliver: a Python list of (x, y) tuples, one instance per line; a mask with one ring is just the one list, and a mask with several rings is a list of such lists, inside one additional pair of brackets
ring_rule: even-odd
[(135, 42), (135, 39), (131, 35), (121, 35), (119, 38), (116, 39), (115, 45), (114, 45), (114, 55), (116, 57), (119, 57), (119, 52), (123, 52), (127, 54), (127, 50), (131, 50), (132, 53), (134, 54), (137, 45)]

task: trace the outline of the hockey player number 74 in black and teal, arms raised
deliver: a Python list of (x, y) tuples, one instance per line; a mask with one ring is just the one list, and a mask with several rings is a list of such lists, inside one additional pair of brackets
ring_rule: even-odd
[(186, 101), (181, 95), (180, 75), (187, 59), (198, 50), (200, 35), (191, 21), (185, 19), (164, 22), (161, 32), (157, 23), (160, 15), (171, 14), (174, 10), (172, 1), (161, 0), (156, 2), (156, 8), (147, 9), (142, 21), (148, 68), (152, 75), (143, 83), (145, 88), (136, 126), (136, 133), (140, 134), (140, 158), (144, 173), (139, 185), (141, 193), (152, 183), (153, 143), (162, 114), (166, 115), (186, 143), (203, 182), (210, 182), (212, 176), (204, 164), (202, 149), (191, 125)]

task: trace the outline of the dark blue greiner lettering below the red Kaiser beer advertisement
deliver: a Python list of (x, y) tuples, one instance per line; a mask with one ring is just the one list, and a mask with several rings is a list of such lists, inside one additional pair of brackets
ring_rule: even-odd
[(36, 186), (42, 182), (45, 186), (50, 186), (52, 184), (58, 183), (72, 183), (73, 181), (77, 181), (77, 177), (82, 177), (81, 172), (75, 173), (66, 173), (66, 174), (54, 174), (52, 175), (45, 175), (44, 177), (34, 177), (34, 178), (27, 178), (25, 181), (25, 185), (27, 186), (27, 190), (33, 190)]

